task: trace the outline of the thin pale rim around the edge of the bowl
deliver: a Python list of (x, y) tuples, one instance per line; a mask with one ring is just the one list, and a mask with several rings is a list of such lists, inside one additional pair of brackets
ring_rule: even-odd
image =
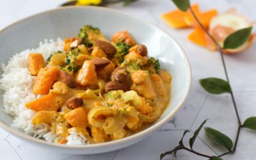
[(39, 13), (36, 13), (34, 15), (30, 15), (29, 17), (26, 17), (24, 19), (17, 20), (16, 22), (13, 22), (12, 24), (10, 24), (10, 25), (6, 26), (5, 28), (1, 29), (0, 34), (3, 33), (3, 31), (5, 31), (8, 28), (10, 28), (12, 26), (15, 26), (15, 25), (19, 25), (20, 22), (22, 22), (24, 20), (31, 19), (31, 18), (36, 17), (38, 15), (41, 15), (41, 14), (44, 14), (44, 13), (56, 12), (58, 10), (66, 10), (66, 9), (74, 9), (74, 8), (84, 8), (84, 9), (94, 8), (94, 9), (97, 9), (97, 10), (107, 10), (109, 12), (115, 12), (115, 13), (118, 13), (118, 14), (122, 14), (126, 17), (129, 17), (129, 19), (133, 19), (133, 20), (137, 20), (139, 22), (142, 22), (143, 24), (146, 24), (146, 25), (150, 26), (151, 28), (154, 28), (154, 29), (160, 31), (161, 33), (163, 33), (164, 35), (166, 35), (170, 39), (172, 39), (173, 42), (175, 42), (174, 44), (176, 45), (177, 49), (179, 49), (179, 52), (182, 54), (182, 56), (184, 58), (184, 61), (186, 63), (186, 69), (188, 70), (188, 86), (186, 88), (186, 93), (182, 97), (182, 100), (180, 100), (179, 104), (177, 104), (177, 106), (173, 109), (173, 111), (171, 113), (168, 113), (168, 115), (166, 115), (166, 117), (164, 117), (159, 122), (156, 122), (156, 124), (151, 125), (147, 129), (144, 129), (143, 131), (132, 134), (131, 136), (121, 138), (120, 140), (107, 141), (107, 142), (104, 142), (104, 143), (94, 143), (94, 144), (90, 144), (90, 145), (63, 145), (63, 144), (51, 143), (51, 142), (48, 142), (48, 141), (45, 141), (45, 140), (40, 140), (40, 139), (34, 138), (33, 136), (31, 136), (29, 134), (26, 134), (26, 133), (24, 134), (23, 131), (21, 131), (21, 132), (16, 131), (15, 129), (13, 129), (12, 127), (4, 124), (1, 121), (0, 121), (0, 127), (2, 127), (5, 131), (9, 132), (10, 134), (12, 134), (14, 136), (17, 136), (19, 138), (22, 138), (26, 141), (31, 141), (33, 143), (39, 143), (41, 145), (45, 145), (45, 146), (48, 146), (48, 147), (58, 147), (58, 148), (63, 148), (63, 149), (65, 148), (65, 149), (71, 149), (71, 150), (86, 149), (86, 148), (93, 149), (93, 148), (98, 148), (98, 147), (107, 147), (107, 146), (111, 146), (111, 145), (118, 145), (120, 143), (127, 143), (129, 141), (132, 141), (132, 139), (138, 140), (138, 138), (142, 138), (143, 136), (148, 135), (151, 132), (156, 131), (156, 129), (159, 129), (159, 127), (161, 127), (163, 124), (165, 124), (168, 120), (170, 120), (170, 118), (172, 118), (173, 115), (175, 115), (175, 113), (177, 113), (177, 111), (179, 111), (179, 109), (184, 104), (186, 98), (188, 97), (188, 93), (189, 93), (189, 90), (191, 88), (191, 66), (189, 64), (188, 57), (186, 56), (182, 47), (180, 47), (179, 43), (171, 35), (169, 35), (165, 31), (163, 31), (162, 29), (157, 28), (156, 26), (154, 26), (150, 22), (146, 22), (145, 20), (137, 19), (137, 18), (133, 17), (132, 15), (129, 15), (128, 13), (120, 12), (120, 11), (112, 9), (112, 8), (106, 8), (106, 7), (102, 7), (102, 6), (63, 6), (61, 8), (54, 8), (54, 9), (51, 9), (51, 10), (46, 10), (44, 12), (39, 12)]

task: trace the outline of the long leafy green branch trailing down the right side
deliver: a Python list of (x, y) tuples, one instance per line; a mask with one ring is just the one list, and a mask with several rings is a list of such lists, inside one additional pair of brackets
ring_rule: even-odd
[(211, 40), (217, 46), (217, 49), (220, 52), (221, 61), (223, 64), (223, 69), (224, 69), (227, 81), (220, 79), (220, 78), (216, 78), (216, 77), (209, 77), (209, 78), (205, 78), (205, 79), (200, 79), (199, 82), (200, 82), (201, 86), (205, 89), (205, 91), (207, 91), (209, 93), (212, 93), (212, 94), (230, 93), (231, 98), (232, 98), (232, 103), (234, 106), (234, 110), (236, 111), (238, 128), (237, 128), (236, 140), (233, 145), (232, 140), (230, 138), (228, 138), (228, 136), (226, 136), (225, 134), (221, 133), (220, 131), (217, 131), (216, 129), (212, 129), (210, 127), (205, 127), (205, 133), (207, 134), (209, 139), (212, 142), (216, 143), (217, 145), (220, 145), (220, 146), (224, 147), (225, 149), (227, 149), (227, 152), (220, 154), (219, 156), (209, 156), (209, 155), (202, 154), (200, 152), (196, 152), (195, 150), (193, 150), (193, 144), (196, 140), (196, 137), (198, 136), (198, 134), (199, 134), (200, 130), (202, 129), (202, 127), (204, 126), (204, 124), (207, 122), (207, 120), (204, 120), (204, 122), (202, 122), (202, 124), (198, 127), (198, 129), (196, 129), (193, 136), (189, 139), (190, 149), (188, 147), (185, 147), (183, 144), (183, 138), (189, 132), (188, 130), (186, 130), (186, 131), (184, 131), (184, 134), (183, 134), (181, 140), (179, 141), (179, 145), (177, 145), (177, 147), (173, 148), (173, 150), (170, 150), (168, 152), (164, 152), (163, 154), (161, 154), (160, 159), (163, 159), (163, 157), (166, 156), (167, 154), (174, 154), (174, 156), (176, 156), (177, 151), (187, 150), (188, 152), (191, 152), (198, 156), (207, 157), (207, 158), (209, 158), (209, 160), (220, 160), (221, 157), (223, 157), (227, 154), (233, 154), (234, 152), (236, 152), (237, 142), (238, 142), (239, 134), (240, 134), (242, 127), (247, 128), (247, 129), (253, 129), (256, 131), (256, 117), (247, 118), (244, 121), (244, 124), (243, 125), (241, 124), (241, 119), (240, 119), (239, 113), (237, 111), (236, 100), (234, 98), (234, 93), (232, 92), (232, 88), (230, 86), (227, 67), (226, 67), (225, 59), (224, 59), (224, 55), (223, 55), (224, 49), (236, 49), (237, 47), (240, 47), (241, 45), (246, 43), (248, 41), (248, 39), (250, 38), (252, 27), (239, 29), (239, 30), (235, 31), (234, 33), (228, 35), (227, 38), (225, 38), (225, 40), (224, 40), (223, 47), (221, 47), (221, 45), (214, 39), (214, 37), (207, 31), (207, 29), (205, 29), (205, 27), (202, 25), (200, 20), (196, 17), (195, 13), (193, 12), (193, 10), (190, 6), (189, 0), (172, 0), (172, 1), (177, 6), (177, 8), (179, 8), (179, 10), (181, 10), (183, 12), (186, 12), (187, 10), (190, 11), (191, 14), (193, 15), (193, 17), (195, 18), (196, 22), (198, 22), (199, 26), (205, 31), (207, 36), (209, 36), (209, 38), (211, 38)]

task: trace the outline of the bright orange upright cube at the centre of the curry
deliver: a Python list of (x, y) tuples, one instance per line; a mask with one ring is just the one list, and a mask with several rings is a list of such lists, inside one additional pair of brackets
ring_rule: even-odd
[(83, 67), (77, 72), (76, 81), (82, 86), (97, 84), (97, 74), (92, 61), (84, 61)]

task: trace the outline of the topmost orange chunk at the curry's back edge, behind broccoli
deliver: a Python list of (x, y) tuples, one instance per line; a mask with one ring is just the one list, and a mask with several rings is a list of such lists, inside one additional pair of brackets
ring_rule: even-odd
[(119, 40), (123, 40), (126, 44), (129, 44), (131, 46), (136, 45), (135, 40), (127, 31), (118, 31), (115, 33), (115, 35), (113, 35), (113, 42), (118, 42)]

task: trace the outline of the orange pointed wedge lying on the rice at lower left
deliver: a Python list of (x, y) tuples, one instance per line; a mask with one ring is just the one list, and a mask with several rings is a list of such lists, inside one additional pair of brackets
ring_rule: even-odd
[(39, 99), (36, 99), (32, 102), (28, 102), (26, 107), (29, 109), (33, 109), (34, 111), (57, 111), (63, 104), (65, 103), (65, 99), (63, 97), (49, 94)]

